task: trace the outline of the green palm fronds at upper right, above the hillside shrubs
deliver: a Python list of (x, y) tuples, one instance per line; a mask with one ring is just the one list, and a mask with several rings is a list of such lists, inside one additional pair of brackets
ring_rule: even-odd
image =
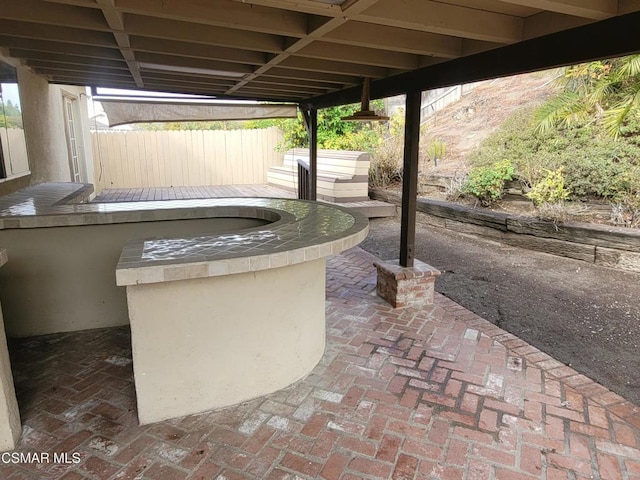
[(569, 67), (558, 83), (562, 91), (536, 114), (537, 132), (601, 124), (614, 138), (635, 133), (634, 121), (640, 117), (640, 55)]

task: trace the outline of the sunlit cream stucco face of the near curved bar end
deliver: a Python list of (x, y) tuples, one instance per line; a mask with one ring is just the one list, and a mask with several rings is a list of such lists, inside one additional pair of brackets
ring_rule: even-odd
[(127, 287), (140, 423), (244, 402), (307, 375), (324, 353), (325, 265)]

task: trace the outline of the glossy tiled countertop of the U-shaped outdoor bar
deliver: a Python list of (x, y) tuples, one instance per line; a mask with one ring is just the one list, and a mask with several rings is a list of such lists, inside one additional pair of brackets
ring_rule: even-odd
[(65, 204), (79, 184), (47, 183), (0, 198), (0, 230), (216, 217), (270, 221), (237, 234), (133, 241), (116, 267), (120, 286), (265, 270), (326, 257), (357, 245), (363, 215), (318, 202), (217, 198)]

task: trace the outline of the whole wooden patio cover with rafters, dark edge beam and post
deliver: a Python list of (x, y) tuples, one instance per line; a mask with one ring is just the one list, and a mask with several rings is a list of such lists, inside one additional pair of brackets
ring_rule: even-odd
[(365, 77), (407, 94), (410, 265), (419, 93), (638, 52), (640, 0), (0, 0), (0, 48), (53, 83), (294, 102), (312, 139)]

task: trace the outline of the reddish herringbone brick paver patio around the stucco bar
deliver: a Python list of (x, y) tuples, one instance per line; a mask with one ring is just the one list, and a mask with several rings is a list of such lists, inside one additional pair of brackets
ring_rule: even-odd
[(372, 261), (329, 259), (311, 375), (221, 411), (138, 426), (127, 328), (12, 342), (18, 452), (70, 462), (0, 478), (640, 480), (638, 407), (440, 295), (392, 309)]

